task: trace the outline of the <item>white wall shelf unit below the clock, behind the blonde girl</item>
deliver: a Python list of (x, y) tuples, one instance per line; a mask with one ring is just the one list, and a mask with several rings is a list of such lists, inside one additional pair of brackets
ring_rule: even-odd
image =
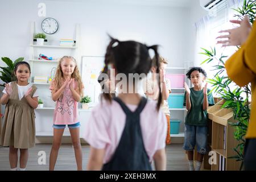
[[(36, 108), (36, 137), (52, 137), (53, 129), (53, 110), (55, 109), (55, 102), (51, 99), (51, 92), (49, 90), (49, 82), (47, 79), (46, 83), (34, 82), (35, 76), (46, 76), (49, 78), (51, 75), (52, 68), (57, 68), (57, 64), (59, 63), (58, 59), (64, 55), (70, 55), (75, 57), (77, 61), (77, 65), (81, 64), (81, 53), (80, 53), (80, 24), (75, 25), (74, 34), (72, 37), (75, 42), (75, 46), (59, 46), (56, 45), (59, 43), (59, 38), (57, 38), (57, 34), (55, 35), (47, 35), (47, 43), (44, 42), (43, 46), (34, 44), (34, 34), (40, 31), (36, 31), (36, 23), (31, 23), (31, 34), (30, 34), (30, 57), (28, 59), (31, 67), (31, 77), (30, 82), (38, 87), (39, 98), (41, 98), (44, 102), (43, 108)], [(73, 37), (74, 36), (74, 37)], [(44, 55), (51, 55), (53, 60), (44, 60), (39, 59), (39, 54), (42, 53)], [(88, 112), (79, 109), (79, 115), (88, 114)], [(87, 116), (86, 116), (87, 117)], [(81, 119), (79, 119), (80, 121)], [(81, 121), (83, 122), (83, 121)], [(81, 123), (82, 125), (82, 123)], [(70, 136), (69, 131), (64, 131), (64, 136)], [(81, 135), (81, 133), (80, 133)]]

